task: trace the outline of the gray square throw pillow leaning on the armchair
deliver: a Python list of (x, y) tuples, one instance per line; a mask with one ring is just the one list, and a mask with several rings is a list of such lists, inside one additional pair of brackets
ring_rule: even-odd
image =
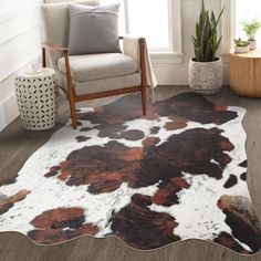
[(69, 4), (70, 54), (121, 52), (118, 3), (105, 6)]

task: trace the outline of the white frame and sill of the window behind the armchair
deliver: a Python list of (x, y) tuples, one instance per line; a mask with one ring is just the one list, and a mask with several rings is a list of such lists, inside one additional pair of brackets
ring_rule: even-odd
[[(125, 31), (129, 33), (128, 1), (124, 0)], [(150, 51), (153, 63), (182, 63), (181, 51), (181, 0), (168, 0), (169, 49)]]

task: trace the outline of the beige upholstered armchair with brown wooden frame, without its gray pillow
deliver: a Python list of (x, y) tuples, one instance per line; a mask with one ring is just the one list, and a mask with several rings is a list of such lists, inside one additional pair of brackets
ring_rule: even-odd
[[(98, 1), (73, 1), (96, 6)], [(76, 128), (75, 103), (140, 92), (143, 114), (146, 114), (146, 42), (138, 39), (138, 61), (125, 53), (92, 53), (71, 55), (69, 50), (69, 3), (45, 0), (42, 4), (43, 66), (55, 69), (60, 87), (70, 103), (73, 128)], [(121, 39), (121, 38), (119, 38)]]

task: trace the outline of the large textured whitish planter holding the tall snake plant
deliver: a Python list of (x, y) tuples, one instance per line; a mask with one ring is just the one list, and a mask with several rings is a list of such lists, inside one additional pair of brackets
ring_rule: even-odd
[(189, 61), (189, 86), (194, 92), (213, 94), (222, 87), (222, 61), (195, 62)]

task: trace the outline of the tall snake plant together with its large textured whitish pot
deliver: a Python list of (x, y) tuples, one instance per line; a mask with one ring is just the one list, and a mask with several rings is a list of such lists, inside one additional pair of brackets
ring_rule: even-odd
[(216, 56), (222, 36), (218, 39), (217, 27), (225, 7), (216, 19), (213, 11), (206, 10), (201, 1), (196, 35), (191, 36), (195, 58), (189, 61), (189, 86), (202, 94), (217, 93), (222, 87), (222, 62)]

